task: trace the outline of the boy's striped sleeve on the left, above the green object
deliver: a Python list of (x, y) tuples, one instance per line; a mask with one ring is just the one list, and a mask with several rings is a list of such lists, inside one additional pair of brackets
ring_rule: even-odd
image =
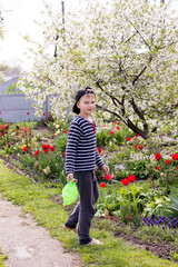
[(80, 139), (81, 129), (77, 122), (70, 125), (68, 142), (66, 147), (66, 172), (73, 174), (77, 145)]

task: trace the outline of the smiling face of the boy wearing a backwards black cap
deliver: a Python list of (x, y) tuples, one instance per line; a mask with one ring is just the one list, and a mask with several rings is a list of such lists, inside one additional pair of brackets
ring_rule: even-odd
[(77, 102), (77, 107), (80, 109), (80, 115), (89, 117), (96, 107), (96, 96), (93, 93), (82, 96)]

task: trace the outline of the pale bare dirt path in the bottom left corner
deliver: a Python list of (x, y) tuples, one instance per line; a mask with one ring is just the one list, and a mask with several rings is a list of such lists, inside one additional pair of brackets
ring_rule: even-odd
[(8, 267), (80, 267), (78, 254), (66, 253), (59, 240), (38, 226), (30, 214), (0, 196), (0, 247)]

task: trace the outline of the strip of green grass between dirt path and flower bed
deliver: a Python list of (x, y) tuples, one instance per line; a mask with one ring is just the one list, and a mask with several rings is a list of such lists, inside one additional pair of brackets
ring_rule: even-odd
[(63, 243), (67, 250), (79, 251), (85, 266), (178, 267), (176, 263), (159, 259), (149, 251), (127, 246), (106, 229), (91, 229), (91, 236), (103, 241), (103, 246), (80, 246), (77, 235), (62, 228), (68, 212), (62, 206), (50, 200), (52, 196), (59, 196), (61, 189), (47, 188), (41, 184), (34, 185), (30, 178), (7, 169), (2, 161), (0, 169), (2, 196), (12, 204), (21, 206), (24, 212), (30, 211), (39, 225), (48, 228), (52, 237)]

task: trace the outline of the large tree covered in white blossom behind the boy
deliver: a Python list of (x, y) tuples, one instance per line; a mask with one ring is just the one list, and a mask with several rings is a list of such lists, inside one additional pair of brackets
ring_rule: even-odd
[[(21, 90), (37, 100), (37, 110), (50, 95), (52, 112), (59, 116), (77, 89), (91, 86), (101, 111), (149, 138), (160, 121), (174, 123), (178, 115), (178, 18), (169, 7), (113, 0), (88, 8), (81, 17), (67, 14), (65, 27), (53, 17), (33, 70), (19, 82)], [(49, 53), (51, 46), (56, 57)]]

